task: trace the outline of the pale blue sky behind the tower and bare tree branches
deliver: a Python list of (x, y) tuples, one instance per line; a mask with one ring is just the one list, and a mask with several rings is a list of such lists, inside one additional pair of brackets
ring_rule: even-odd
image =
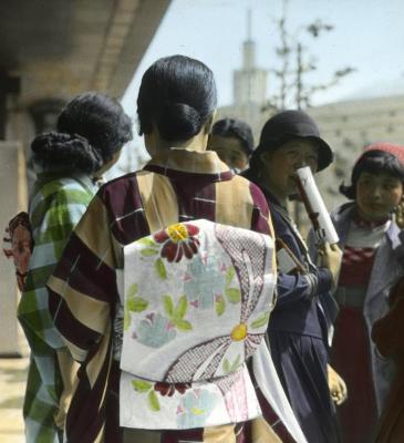
[[(153, 1), (153, 0), (152, 0)], [(277, 68), (279, 35), (274, 25), (281, 0), (173, 0), (123, 99), (134, 117), (144, 71), (160, 56), (185, 54), (201, 60), (216, 78), (219, 106), (232, 102), (232, 71), (241, 66), (247, 37), (247, 10), (252, 13), (252, 39), (259, 68)], [(307, 53), (317, 58), (318, 71), (308, 82), (328, 82), (344, 66), (358, 71), (338, 86), (320, 92), (314, 104), (384, 91), (404, 93), (403, 0), (289, 0), (288, 28), (300, 35)], [(334, 30), (319, 39), (304, 33), (304, 24), (321, 19)], [(269, 91), (276, 86), (269, 74)], [(135, 140), (135, 145), (142, 142)]]

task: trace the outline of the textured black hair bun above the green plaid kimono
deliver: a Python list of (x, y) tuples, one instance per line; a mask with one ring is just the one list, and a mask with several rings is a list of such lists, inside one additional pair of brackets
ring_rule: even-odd
[(43, 167), (93, 173), (103, 165), (99, 152), (79, 134), (59, 132), (38, 135), (31, 143), (34, 161)]

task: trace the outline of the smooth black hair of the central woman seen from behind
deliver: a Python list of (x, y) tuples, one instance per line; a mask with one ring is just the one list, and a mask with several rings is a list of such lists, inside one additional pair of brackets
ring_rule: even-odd
[(155, 124), (168, 142), (188, 140), (213, 115), (216, 102), (214, 74), (204, 63), (184, 55), (159, 59), (142, 79), (139, 135), (149, 134)]

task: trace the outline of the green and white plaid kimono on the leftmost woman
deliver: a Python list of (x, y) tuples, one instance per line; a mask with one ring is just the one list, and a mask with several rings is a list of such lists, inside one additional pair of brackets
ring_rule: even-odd
[[(42, 173), (31, 196), (30, 219), (35, 245), (18, 308), (18, 318), (31, 348), (23, 406), (29, 443), (58, 442), (59, 426), (63, 425), (65, 405), (61, 404), (63, 382), (58, 362), (63, 343), (49, 315), (45, 284), (95, 190), (87, 176)], [(56, 415), (62, 423), (55, 423)]]

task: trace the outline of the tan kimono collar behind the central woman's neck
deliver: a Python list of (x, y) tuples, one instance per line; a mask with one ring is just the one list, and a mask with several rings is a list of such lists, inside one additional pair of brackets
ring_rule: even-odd
[(230, 177), (234, 175), (214, 151), (197, 152), (172, 147), (159, 152), (146, 165), (146, 169), (155, 167), (163, 168), (165, 175), (168, 175), (166, 169), (193, 174), (229, 174)]

